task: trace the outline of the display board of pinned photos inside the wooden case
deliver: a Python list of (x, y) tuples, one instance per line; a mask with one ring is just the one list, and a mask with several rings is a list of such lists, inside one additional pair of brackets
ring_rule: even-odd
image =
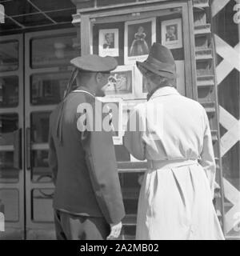
[[(186, 95), (186, 60), (184, 51), (184, 30), (182, 8), (170, 8), (139, 14), (126, 18), (106, 18), (92, 23), (92, 54), (102, 57), (112, 56), (118, 67), (110, 74), (106, 97), (122, 99), (122, 127), (126, 126), (127, 114), (138, 105), (146, 102), (146, 78), (138, 70), (136, 62), (144, 62), (154, 42), (159, 42), (172, 52), (176, 63), (177, 90)], [(119, 140), (118, 140), (119, 142)], [(121, 144), (121, 143), (120, 143)]]

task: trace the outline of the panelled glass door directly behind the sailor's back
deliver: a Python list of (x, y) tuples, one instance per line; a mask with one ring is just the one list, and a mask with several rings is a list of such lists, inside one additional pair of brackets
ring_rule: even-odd
[(54, 185), (48, 167), (50, 112), (70, 78), (75, 29), (26, 34), (26, 238), (54, 238)]

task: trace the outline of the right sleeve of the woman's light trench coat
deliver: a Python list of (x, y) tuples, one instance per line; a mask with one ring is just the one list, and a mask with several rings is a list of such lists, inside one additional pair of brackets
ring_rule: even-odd
[(209, 120), (207, 118), (207, 114), (205, 110), (204, 110), (204, 125), (205, 125), (205, 132), (204, 132), (204, 138), (203, 138), (200, 164), (205, 170), (206, 176), (209, 179), (212, 198), (214, 198), (214, 182), (215, 182), (215, 174), (216, 174), (216, 164), (214, 159), (214, 148), (212, 144)]

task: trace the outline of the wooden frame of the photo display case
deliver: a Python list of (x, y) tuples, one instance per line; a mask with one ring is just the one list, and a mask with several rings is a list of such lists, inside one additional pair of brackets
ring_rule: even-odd
[(95, 24), (110, 22), (128, 22), (144, 18), (154, 18), (166, 14), (166, 10), (172, 14), (174, 10), (182, 10), (182, 40), (185, 58), (185, 96), (197, 99), (196, 90), (196, 64), (194, 50), (194, 18), (192, 1), (178, 2), (149, 2), (138, 5), (122, 7), (109, 6), (98, 10), (80, 10), (81, 14), (81, 50), (82, 55), (93, 53), (93, 26)]

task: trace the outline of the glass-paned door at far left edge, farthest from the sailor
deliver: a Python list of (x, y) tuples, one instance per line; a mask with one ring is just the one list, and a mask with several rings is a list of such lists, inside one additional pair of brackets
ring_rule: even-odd
[(0, 239), (24, 238), (22, 35), (0, 39)]

